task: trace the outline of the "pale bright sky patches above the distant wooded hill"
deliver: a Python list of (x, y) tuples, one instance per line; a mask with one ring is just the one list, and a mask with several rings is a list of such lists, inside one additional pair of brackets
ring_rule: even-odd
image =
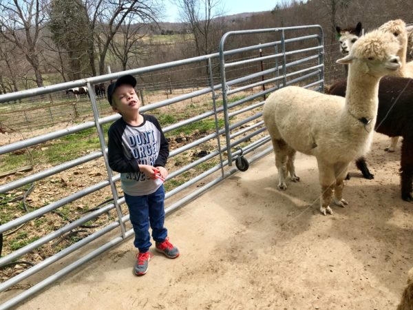
[[(166, 1), (165, 1), (166, 2)], [(222, 0), (226, 15), (260, 12), (273, 10), (277, 1), (275, 0)], [(170, 3), (165, 12), (165, 20), (170, 23), (178, 22), (178, 8)]]

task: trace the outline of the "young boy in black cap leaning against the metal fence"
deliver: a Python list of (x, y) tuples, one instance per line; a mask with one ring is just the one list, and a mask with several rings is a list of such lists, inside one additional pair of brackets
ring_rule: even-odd
[(134, 245), (139, 250), (134, 273), (147, 273), (153, 256), (149, 225), (156, 250), (168, 258), (177, 258), (179, 250), (167, 237), (164, 227), (165, 190), (163, 180), (168, 175), (165, 164), (169, 145), (155, 116), (140, 114), (140, 101), (135, 92), (134, 76), (120, 76), (107, 88), (107, 99), (114, 112), (122, 118), (108, 132), (109, 166), (120, 172), (120, 184), (125, 193), (129, 217), (134, 227)]

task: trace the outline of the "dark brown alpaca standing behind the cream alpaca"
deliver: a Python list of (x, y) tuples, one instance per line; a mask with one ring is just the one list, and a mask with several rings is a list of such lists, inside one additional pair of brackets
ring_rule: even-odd
[[(339, 81), (330, 87), (329, 94), (346, 96), (347, 81)], [(403, 136), (401, 147), (401, 198), (412, 201), (413, 180), (413, 79), (385, 76), (379, 85), (379, 110), (376, 132), (387, 136)], [(357, 167), (365, 178), (373, 178), (361, 157)]]

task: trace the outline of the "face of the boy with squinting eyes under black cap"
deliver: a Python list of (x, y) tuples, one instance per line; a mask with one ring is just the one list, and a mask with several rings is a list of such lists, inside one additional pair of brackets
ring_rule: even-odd
[(131, 85), (120, 85), (116, 87), (114, 94), (112, 94), (112, 110), (122, 115), (134, 114), (140, 108), (140, 101)]

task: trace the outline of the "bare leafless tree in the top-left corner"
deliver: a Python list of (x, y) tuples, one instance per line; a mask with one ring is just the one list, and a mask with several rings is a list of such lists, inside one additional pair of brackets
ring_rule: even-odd
[(43, 86), (38, 43), (45, 26), (46, 4), (47, 0), (0, 1), (0, 35), (23, 52), (34, 70), (38, 87)]

